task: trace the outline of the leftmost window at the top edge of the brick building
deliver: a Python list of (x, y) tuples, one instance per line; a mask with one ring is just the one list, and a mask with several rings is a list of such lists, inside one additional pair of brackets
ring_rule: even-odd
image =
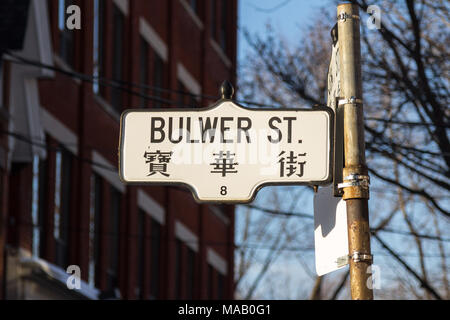
[(66, 28), (66, 9), (72, 0), (58, 0), (59, 55), (68, 65), (74, 65), (75, 32)]

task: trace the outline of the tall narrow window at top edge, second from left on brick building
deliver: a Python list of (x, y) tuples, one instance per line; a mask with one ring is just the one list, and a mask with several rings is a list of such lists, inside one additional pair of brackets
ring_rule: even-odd
[[(94, 77), (104, 77), (103, 71), (103, 30), (104, 30), (104, 12), (105, 1), (94, 0), (94, 36), (93, 36), (93, 73)], [(94, 80), (92, 85), (95, 94), (104, 94), (104, 87), (100, 87), (99, 81)]]

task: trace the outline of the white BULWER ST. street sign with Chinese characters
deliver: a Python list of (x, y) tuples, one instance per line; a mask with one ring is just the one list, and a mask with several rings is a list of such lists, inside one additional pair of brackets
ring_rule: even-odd
[(184, 184), (204, 202), (249, 202), (269, 184), (329, 184), (332, 124), (329, 108), (247, 109), (231, 100), (206, 109), (127, 110), (120, 177)]

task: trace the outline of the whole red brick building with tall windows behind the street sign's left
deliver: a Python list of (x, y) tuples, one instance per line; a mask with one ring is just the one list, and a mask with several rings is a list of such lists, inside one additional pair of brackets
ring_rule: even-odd
[(26, 60), (0, 70), (2, 298), (233, 298), (234, 208), (122, 184), (117, 147), (125, 108), (207, 106), (234, 82), (236, 30), (237, 0), (30, 1), (4, 55)]

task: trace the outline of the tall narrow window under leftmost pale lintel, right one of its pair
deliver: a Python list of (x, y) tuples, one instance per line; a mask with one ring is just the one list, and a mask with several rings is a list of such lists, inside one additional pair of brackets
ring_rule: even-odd
[(72, 156), (64, 148), (56, 153), (55, 212), (53, 235), (56, 241), (56, 265), (66, 268), (68, 264), (69, 217)]

